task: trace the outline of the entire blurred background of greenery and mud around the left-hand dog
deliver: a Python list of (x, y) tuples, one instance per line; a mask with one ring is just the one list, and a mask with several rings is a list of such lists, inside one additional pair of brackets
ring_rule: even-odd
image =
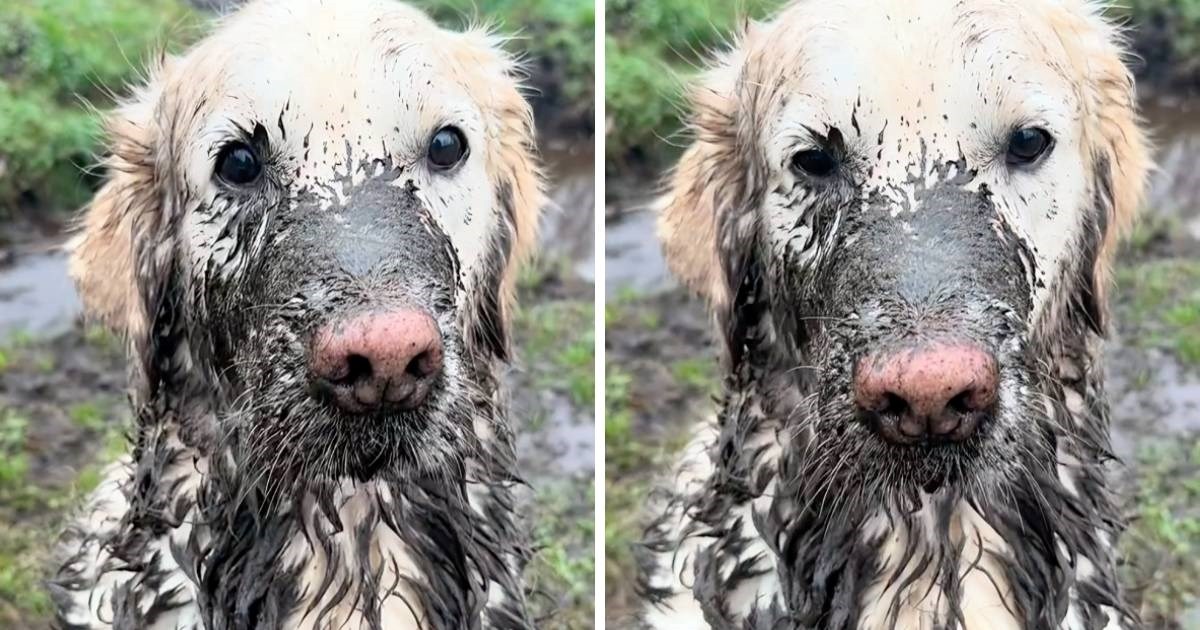
[[(330, 0), (336, 2), (337, 0)], [(542, 251), (520, 281), (505, 373), (528, 482), (521, 515), (539, 628), (592, 628), (592, 0), (409, 0), (443, 25), (511, 36), (550, 172)], [(0, 629), (48, 625), (49, 550), (126, 452), (124, 343), (78, 320), (61, 229), (103, 173), (100, 121), (162, 48), (240, 0), (0, 0)]]

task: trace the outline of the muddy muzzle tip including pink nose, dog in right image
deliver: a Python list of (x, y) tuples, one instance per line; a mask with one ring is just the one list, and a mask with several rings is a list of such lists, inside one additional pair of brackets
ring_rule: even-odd
[[(796, 370), (794, 425), (811, 427), (806, 458), (841, 462), (845, 482), (889, 493), (978, 488), (1025, 456), (1030, 437), (1016, 418), (1032, 413), (1004, 392), (1020, 391), (1015, 359), (961, 341), (875, 346), (838, 358), (844, 343), (812, 340), (821, 350)], [(841, 337), (845, 340), (845, 337)], [(1030, 407), (1026, 409), (1026, 407)], [(1031, 416), (1030, 426), (1036, 424)], [(814, 463), (812, 466), (818, 466)], [(994, 474), (1000, 473), (1000, 474)]]

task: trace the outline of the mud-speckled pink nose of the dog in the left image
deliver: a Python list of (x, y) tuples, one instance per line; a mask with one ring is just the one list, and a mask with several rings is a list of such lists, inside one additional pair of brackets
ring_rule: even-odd
[(442, 332), (422, 311), (360, 316), (317, 331), (313, 388), (340, 408), (415, 409), (442, 372)]

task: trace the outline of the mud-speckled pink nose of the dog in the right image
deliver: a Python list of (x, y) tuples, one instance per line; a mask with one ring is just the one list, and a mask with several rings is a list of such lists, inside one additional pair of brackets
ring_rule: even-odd
[(868, 356), (854, 371), (854, 400), (890, 442), (960, 442), (996, 403), (996, 359), (966, 343)]

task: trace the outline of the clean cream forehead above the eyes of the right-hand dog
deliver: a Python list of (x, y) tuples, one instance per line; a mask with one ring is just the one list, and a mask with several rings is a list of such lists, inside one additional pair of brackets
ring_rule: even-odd
[(1021, 4), (800, 2), (762, 26), (748, 60), (791, 60), (779, 125), (954, 158), (1018, 124), (1069, 125), (1079, 107), (1063, 34), (1028, 8), (1045, 2)]

